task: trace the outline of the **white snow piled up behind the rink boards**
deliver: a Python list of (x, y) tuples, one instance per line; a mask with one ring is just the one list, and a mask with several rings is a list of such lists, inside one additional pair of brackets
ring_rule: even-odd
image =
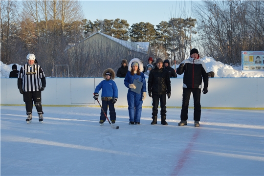
[[(207, 71), (213, 71), (215, 73), (216, 78), (239, 78), (239, 77), (264, 77), (264, 71), (243, 71), (241, 69), (241, 66), (229, 66), (227, 64), (223, 64), (221, 62), (218, 62), (214, 60), (212, 57), (205, 56), (201, 59), (206, 67)], [(0, 61), (0, 72), (1, 78), (8, 78), (10, 71), (12, 71), (12, 66), (14, 64), (5, 65)], [(20, 70), (20, 65), (16, 64), (18, 66), (18, 70)], [(172, 66), (174, 68), (174, 66)], [(177, 75), (178, 78), (182, 78), (182, 75)]]

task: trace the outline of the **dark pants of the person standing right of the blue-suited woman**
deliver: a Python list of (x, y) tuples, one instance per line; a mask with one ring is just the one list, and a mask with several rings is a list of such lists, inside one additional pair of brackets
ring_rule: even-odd
[(157, 113), (158, 113), (158, 103), (160, 100), (160, 116), (161, 118), (166, 117), (166, 94), (162, 94), (162, 95), (156, 95), (156, 94), (152, 94), (152, 117), (157, 117)]

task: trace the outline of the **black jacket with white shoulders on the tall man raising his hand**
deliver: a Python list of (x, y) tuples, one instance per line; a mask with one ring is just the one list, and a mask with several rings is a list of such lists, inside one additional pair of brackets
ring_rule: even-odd
[(183, 75), (183, 88), (202, 88), (202, 80), (204, 88), (208, 88), (207, 69), (200, 59), (189, 58), (182, 61), (176, 69), (176, 73)]

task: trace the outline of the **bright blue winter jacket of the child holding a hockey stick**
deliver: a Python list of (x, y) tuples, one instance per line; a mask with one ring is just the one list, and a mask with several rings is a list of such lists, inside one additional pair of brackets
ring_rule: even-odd
[(94, 93), (99, 93), (99, 91), (102, 88), (102, 94), (101, 97), (113, 97), (118, 98), (118, 89), (113, 80), (103, 80), (101, 83), (99, 83), (98, 86), (96, 86)]

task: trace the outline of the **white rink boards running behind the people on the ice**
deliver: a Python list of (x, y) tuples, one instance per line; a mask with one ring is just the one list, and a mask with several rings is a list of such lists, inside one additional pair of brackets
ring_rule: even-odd
[[(98, 105), (93, 99), (95, 87), (103, 78), (46, 78), (42, 92), (43, 105)], [(124, 78), (114, 79), (118, 87), (118, 101), (115, 106), (128, 106)], [(148, 79), (146, 79), (148, 82)], [(1, 105), (24, 105), (22, 94), (17, 88), (16, 78), (0, 78)], [(182, 78), (171, 79), (171, 98), (167, 107), (181, 107)], [(264, 78), (209, 78), (207, 94), (201, 94), (203, 108), (264, 108)], [(99, 92), (101, 95), (101, 91)], [(148, 96), (143, 107), (151, 107)], [(193, 97), (190, 98), (193, 107)]]

